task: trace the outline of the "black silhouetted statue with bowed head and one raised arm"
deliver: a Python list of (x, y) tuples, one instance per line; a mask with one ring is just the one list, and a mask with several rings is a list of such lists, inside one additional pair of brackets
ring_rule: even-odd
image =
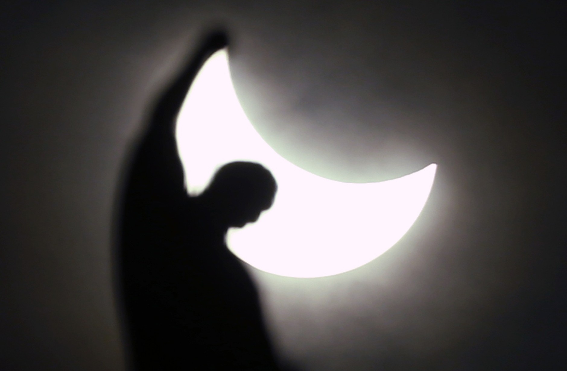
[(175, 121), (202, 63), (225, 45), (211, 37), (155, 107), (123, 195), (120, 293), (137, 370), (276, 370), (255, 284), (225, 245), (229, 227), (255, 221), (276, 192), (259, 164), (218, 170), (189, 197)]

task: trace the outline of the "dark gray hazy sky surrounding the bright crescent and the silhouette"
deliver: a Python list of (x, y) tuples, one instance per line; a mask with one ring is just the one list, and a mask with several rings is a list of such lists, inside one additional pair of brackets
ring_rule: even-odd
[(257, 273), (281, 356), (306, 371), (558, 369), (565, 15), (535, 1), (4, 1), (0, 369), (122, 369), (122, 174), (156, 94), (217, 27), (244, 109), (289, 160), (344, 181), (438, 164), (420, 219), (376, 261)]

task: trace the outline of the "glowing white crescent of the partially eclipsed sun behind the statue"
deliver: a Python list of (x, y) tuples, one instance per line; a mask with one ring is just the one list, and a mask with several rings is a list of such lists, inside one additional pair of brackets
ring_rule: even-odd
[(320, 277), (365, 265), (408, 231), (429, 197), (437, 165), (394, 180), (354, 184), (290, 163), (248, 120), (232, 86), (227, 49), (193, 81), (177, 119), (177, 143), (190, 195), (232, 161), (268, 168), (278, 184), (256, 223), (231, 228), (227, 245), (249, 265), (282, 276)]

